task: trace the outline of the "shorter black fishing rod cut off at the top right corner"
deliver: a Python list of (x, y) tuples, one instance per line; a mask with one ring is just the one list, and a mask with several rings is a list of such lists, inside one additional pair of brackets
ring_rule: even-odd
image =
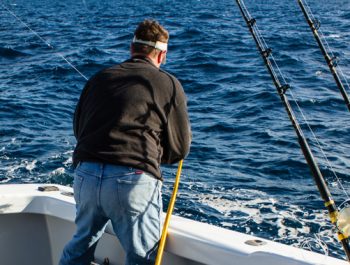
[[(301, 11), (303, 12), (304, 16), (305, 16), (305, 19), (307, 21), (307, 23), (309, 24), (309, 27), (316, 39), (316, 42), (318, 44), (318, 47), (320, 48), (322, 54), (323, 54), (323, 57), (325, 58), (327, 64), (328, 64), (328, 67), (329, 67), (329, 70), (331, 71), (333, 77), (334, 77), (334, 80), (340, 90), (340, 93), (341, 95), (343, 96), (343, 99), (345, 101), (345, 104), (348, 108), (348, 110), (350, 111), (350, 101), (349, 101), (349, 97), (348, 97), (348, 94), (346, 93), (346, 90), (344, 88), (344, 85), (341, 81), (341, 79), (339, 78), (339, 75), (337, 73), (337, 58), (336, 57), (331, 57), (329, 56), (327, 50), (326, 50), (326, 47), (324, 46), (323, 42), (322, 42), (322, 39), (320, 38), (320, 35), (318, 33), (318, 29), (320, 28), (320, 23), (319, 21), (313, 21), (310, 17), (310, 14), (309, 12), (306, 10), (305, 8), (305, 5), (303, 3), (302, 0), (298, 0), (298, 3), (299, 3), (299, 6), (301, 8)], [(311, 11), (311, 10), (310, 10)]]

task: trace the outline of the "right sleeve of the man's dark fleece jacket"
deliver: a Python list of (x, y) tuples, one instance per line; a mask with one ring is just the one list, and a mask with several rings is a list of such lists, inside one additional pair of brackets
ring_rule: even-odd
[(173, 164), (184, 159), (190, 151), (192, 140), (186, 96), (180, 83), (176, 83), (177, 104), (175, 103), (168, 116), (162, 164)]

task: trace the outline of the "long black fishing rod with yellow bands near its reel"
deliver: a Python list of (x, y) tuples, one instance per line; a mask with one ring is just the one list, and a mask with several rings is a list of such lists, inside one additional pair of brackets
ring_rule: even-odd
[(338, 208), (335, 205), (334, 200), (331, 197), (330, 191), (327, 187), (327, 184), (322, 176), (322, 173), (319, 169), (319, 166), (317, 165), (317, 162), (311, 152), (311, 149), (306, 141), (306, 138), (299, 126), (299, 123), (293, 113), (293, 110), (289, 104), (288, 101), (288, 97), (286, 95), (286, 91), (290, 88), (290, 85), (285, 83), (285, 84), (281, 84), (278, 75), (274, 69), (274, 66), (277, 66), (277, 63), (275, 62), (275, 60), (273, 59), (273, 57), (271, 56), (272, 54), (272, 50), (268, 47), (266, 47), (266, 44), (260, 34), (259, 29), (256, 26), (256, 20), (254, 18), (252, 18), (247, 10), (247, 8), (244, 5), (244, 2), (241, 0), (236, 0), (239, 9), (242, 13), (242, 16), (245, 20), (245, 22), (247, 23), (247, 26), (249, 28), (250, 33), (253, 36), (253, 39), (257, 45), (257, 48), (264, 60), (264, 63), (271, 75), (271, 78), (273, 80), (274, 85), (277, 88), (277, 92), (281, 98), (281, 101), (288, 113), (289, 119), (292, 122), (292, 125), (294, 127), (294, 130), (297, 134), (298, 137), (298, 142), (299, 145), (301, 147), (301, 150), (304, 154), (304, 157), (306, 159), (307, 164), (309, 165), (310, 169), (311, 169), (311, 173), (312, 176), (316, 182), (317, 188), (321, 194), (322, 199), (324, 200), (325, 206), (329, 212), (329, 216), (330, 216), (330, 220), (332, 222), (332, 224), (335, 225), (335, 227), (338, 230), (338, 238), (341, 241), (345, 254), (347, 256), (348, 261), (350, 261), (350, 247), (349, 247), (349, 242), (348, 242), (348, 238), (342, 234), (340, 232), (340, 230), (338, 229), (336, 222), (338, 219)]

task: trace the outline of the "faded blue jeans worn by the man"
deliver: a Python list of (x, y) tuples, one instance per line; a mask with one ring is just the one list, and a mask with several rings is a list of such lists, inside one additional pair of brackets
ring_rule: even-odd
[(154, 264), (161, 235), (162, 182), (125, 166), (82, 162), (75, 170), (77, 230), (60, 265), (90, 265), (108, 220), (127, 265)]

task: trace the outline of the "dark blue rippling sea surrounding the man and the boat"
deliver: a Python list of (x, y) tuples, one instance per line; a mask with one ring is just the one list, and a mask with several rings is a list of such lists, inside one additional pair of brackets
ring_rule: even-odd
[[(350, 1), (308, 3), (349, 76)], [(339, 205), (350, 192), (350, 113), (297, 1), (245, 4), (292, 86), (287, 96)], [(82, 75), (128, 59), (133, 31), (145, 18), (170, 31), (163, 68), (188, 97), (193, 142), (175, 214), (297, 247), (325, 245), (344, 258), (292, 124), (231, 0), (0, 1), (0, 182), (72, 185), (72, 115)], [(163, 167), (165, 208), (176, 169)]]

